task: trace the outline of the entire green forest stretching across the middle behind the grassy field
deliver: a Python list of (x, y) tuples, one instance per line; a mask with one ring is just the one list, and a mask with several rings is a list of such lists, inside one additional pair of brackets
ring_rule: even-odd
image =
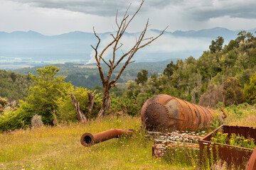
[[(169, 94), (210, 107), (219, 102), (223, 102), (225, 106), (244, 102), (255, 104), (256, 38), (252, 33), (241, 31), (238, 38), (230, 40), (228, 45), (223, 46), (223, 42), (222, 37), (212, 40), (209, 50), (203, 52), (197, 60), (188, 57), (184, 61), (171, 61), (169, 64), (131, 64), (123, 75), (127, 78), (121, 82), (129, 81), (112, 88), (109, 113), (139, 115), (146, 98), (156, 94)], [(52, 125), (56, 121), (76, 121), (77, 114), (70, 93), (80, 102), (81, 111), (87, 113), (87, 93), (92, 91), (95, 104), (87, 118), (95, 118), (102, 103), (102, 87), (95, 86), (96, 81), (101, 85), (97, 78), (97, 68), (93, 65), (88, 67), (74, 64), (56, 66), (18, 71), (28, 74), (30, 70), (29, 75), (0, 72), (3, 77), (0, 91), (0, 131), (29, 127), (35, 115), (40, 115), (45, 125)], [(95, 88), (86, 81), (92, 75), (95, 75), (95, 82), (92, 83)], [(81, 85), (78, 84), (83, 85), (79, 87)], [(8, 98), (24, 101), (20, 101), (18, 108), (8, 108)]]

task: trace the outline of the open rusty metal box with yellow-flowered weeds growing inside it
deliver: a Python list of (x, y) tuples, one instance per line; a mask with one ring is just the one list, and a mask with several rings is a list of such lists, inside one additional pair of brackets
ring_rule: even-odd
[(242, 164), (245, 164), (249, 160), (253, 149), (210, 142), (210, 138), (218, 131), (228, 133), (228, 137), (230, 137), (231, 133), (235, 133), (236, 135), (239, 134), (245, 138), (256, 140), (256, 127), (221, 125), (203, 137), (203, 140), (199, 140), (201, 162), (203, 162), (204, 155), (208, 155), (208, 157), (213, 156), (214, 159), (218, 157), (227, 162), (228, 165), (242, 166)]

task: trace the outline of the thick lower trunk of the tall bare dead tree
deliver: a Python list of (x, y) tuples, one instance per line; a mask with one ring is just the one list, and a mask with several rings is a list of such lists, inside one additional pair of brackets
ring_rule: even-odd
[(110, 86), (103, 87), (103, 103), (102, 108), (100, 108), (100, 112), (97, 115), (97, 118), (103, 118), (105, 114), (110, 110)]

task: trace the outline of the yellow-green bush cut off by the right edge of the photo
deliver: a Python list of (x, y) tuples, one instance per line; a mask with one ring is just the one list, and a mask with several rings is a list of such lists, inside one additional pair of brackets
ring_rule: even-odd
[(250, 83), (245, 84), (245, 98), (250, 104), (256, 103), (256, 72), (250, 78)]

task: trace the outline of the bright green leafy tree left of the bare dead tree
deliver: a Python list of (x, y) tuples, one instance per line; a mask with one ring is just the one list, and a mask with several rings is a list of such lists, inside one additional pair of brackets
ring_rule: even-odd
[(57, 75), (60, 71), (58, 67), (48, 66), (37, 71), (38, 75), (30, 74), (35, 86), (29, 89), (24, 110), (32, 115), (41, 115), (44, 124), (52, 125), (54, 119), (52, 113), (58, 110), (56, 101), (67, 96), (73, 86), (64, 81), (65, 77)]

